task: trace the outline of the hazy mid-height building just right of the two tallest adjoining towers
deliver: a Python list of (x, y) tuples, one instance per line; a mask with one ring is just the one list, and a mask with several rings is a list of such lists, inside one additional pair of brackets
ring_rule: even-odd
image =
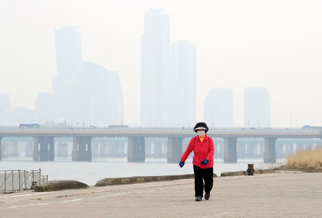
[(214, 88), (204, 101), (204, 121), (208, 127), (233, 126), (233, 91), (231, 88)]

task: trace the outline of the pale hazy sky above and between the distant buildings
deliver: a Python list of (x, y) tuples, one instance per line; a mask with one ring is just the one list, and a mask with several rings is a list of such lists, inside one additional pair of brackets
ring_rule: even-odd
[[(322, 1), (0, 0), (0, 93), (34, 110), (52, 91), (54, 30), (78, 26), (83, 61), (118, 70), (125, 124), (140, 121), (144, 13), (165, 9), (170, 41), (197, 48), (197, 121), (212, 88), (233, 89), (234, 125), (244, 124), (244, 88), (263, 86), (271, 127), (322, 126)], [(171, 78), (169, 78), (171, 79)], [(174, 108), (175, 110), (175, 108)]]

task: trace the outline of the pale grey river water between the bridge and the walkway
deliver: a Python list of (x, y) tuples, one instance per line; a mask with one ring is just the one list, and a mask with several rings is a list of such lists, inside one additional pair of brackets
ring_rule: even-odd
[[(281, 165), (285, 160), (277, 160), (277, 164), (265, 164), (263, 159), (238, 159), (237, 163), (223, 163), (214, 160), (214, 173), (245, 171), (248, 164), (255, 169), (269, 169)], [(162, 176), (193, 174), (192, 159), (187, 159), (183, 168), (178, 163), (169, 164), (167, 159), (145, 159), (144, 163), (128, 163), (127, 158), (93, 158), (92, 162), (75, 162), (71, 158), (56, 158), (53, 162), (34, 162), (32, 158), (10, 157), (0, 161), (0, 170), (38, 170), (41, 175), (48, 175), (48, 180), (77, 180), (88, 185), (95, 185), (105, 178), (130, 176)]]

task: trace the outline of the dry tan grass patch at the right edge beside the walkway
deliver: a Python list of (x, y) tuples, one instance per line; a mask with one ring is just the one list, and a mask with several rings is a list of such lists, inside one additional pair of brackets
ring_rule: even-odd
[(322, 149), (301, 151), (287, 157), (284, 166), (279, 170), (300, 170), (304, 172), (322, 172)]

